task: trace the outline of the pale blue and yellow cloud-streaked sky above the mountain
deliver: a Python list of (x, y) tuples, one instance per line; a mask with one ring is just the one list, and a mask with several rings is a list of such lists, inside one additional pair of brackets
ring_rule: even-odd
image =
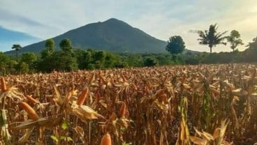
[[(161, 40), (182, 36), (186, 47), (197, 51), (209, 49), (198, 45), (198, 35), (192, 32), (208, 29), (210, 24), (217, 23), (218, 31), (239, 31), (245, 44), (257, 36), (256, 0), (1, 0), (0, 51), (111, 17)], [(213, 51), (228, 52), (230, 48), (218, 45)]]

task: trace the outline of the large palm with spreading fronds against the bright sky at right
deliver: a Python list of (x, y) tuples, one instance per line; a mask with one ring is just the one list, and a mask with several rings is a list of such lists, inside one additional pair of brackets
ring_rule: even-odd
[(210, 53), (212, 54), (212, 47), (215, 47), (216, 45), (226, 45), (226, 43), (223, 43), (223, 40), (227, 38), (227, 36), (222, 37), (227, 31), (224, 31), (223, 33), (217, 33), (216, 30), (218, 29), (218, 26), (216, 24), (210, 25), (209, 31), (198, 31), (198, 34), (200, 38), (199, 44), (200, 45), (208, 45), (210, 47)]

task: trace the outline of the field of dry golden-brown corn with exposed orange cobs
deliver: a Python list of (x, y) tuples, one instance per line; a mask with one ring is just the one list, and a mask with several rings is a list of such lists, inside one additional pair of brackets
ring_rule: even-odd
[(254, 144), (254, 64), (1, 77), (1, 144)]

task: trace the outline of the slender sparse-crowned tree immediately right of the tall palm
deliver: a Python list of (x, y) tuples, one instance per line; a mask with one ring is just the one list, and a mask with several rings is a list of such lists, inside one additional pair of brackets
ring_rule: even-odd
[(240, 33), (236, 30), (230, 32), (230, 36), (228, 36), (227, 40), (228, 43), (230, 43), (230, 48), (233, 49), (233, 52), (235, 50), (235, 47), (237, 47), (238, 45), (244, 45), (242, 39), (240, 39)]

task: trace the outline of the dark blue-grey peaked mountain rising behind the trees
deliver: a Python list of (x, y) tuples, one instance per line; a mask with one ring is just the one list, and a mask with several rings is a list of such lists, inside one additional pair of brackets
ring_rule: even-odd
[[(163, 53), (166, 52), (167, 44), (166, 41), (149, 36), (144, 31), (114, 18), (105, 22), (87, 24), (54, 37), (57, 49), (59, 49), (60, 41), (64, 38), (71, 39), (75, 48), (91, 48), (110, 52)], [(45, 40), (23, 47), (20, 52), (41, 52), (44, 47)], [(10, 54), (13, 51), (6, 53)]]

